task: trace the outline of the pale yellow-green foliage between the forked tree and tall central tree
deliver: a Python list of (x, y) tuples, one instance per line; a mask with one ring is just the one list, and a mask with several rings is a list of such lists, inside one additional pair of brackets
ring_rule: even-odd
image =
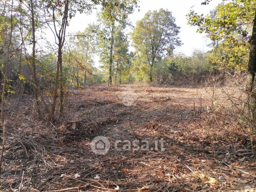
[(86, 78), (90, 78), (93, 74), (98, 29), (98, 25), (89, 24), (83, 32), (79, 31), (71, 35), (68, 47), (64, 50), (64, 78), (76, 87), (84, 85)]

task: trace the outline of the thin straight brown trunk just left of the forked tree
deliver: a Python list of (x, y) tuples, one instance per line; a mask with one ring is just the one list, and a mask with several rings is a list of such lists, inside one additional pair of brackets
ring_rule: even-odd
[(33, 0), (30, 0), (30, 7), (31, 7), (31, 21), (32, 21), (32, 59), (31, 64), (33, 68), (33, 83), (34, 83), (34, 94), (35, 94), (35, 102), (37, 103), (37, 110), (40, 114), (39, 109), (39, 100), (38, 100), (38, 86), (37, 86), (37, 75), (36, 75), (36, 67), (35, 67), (35, 12), (34, 12), (34, 3)]

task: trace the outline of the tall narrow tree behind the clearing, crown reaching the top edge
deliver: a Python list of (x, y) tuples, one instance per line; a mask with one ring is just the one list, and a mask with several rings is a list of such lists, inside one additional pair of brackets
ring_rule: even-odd
[[(105, 60), (105, 65), (109, 68), (109, 80), (108, 85), (112, 85), (112, 67), (113, 67), (113, 48), (114, 48), (114, 34), (118, 29), (124, 29), (128, 24), (128, 15), (132, 13), (133, 6), (137, 4), (137, 0), (108, 0), (102, 3), (103, 8), (99, 19), (103, 23), (103, 29), (101, 33), (101, 53), (108, 54), (108, 60), (101, 57), (101, 60)], [(103, 46), (103, 47), (102, 47)], [(105, 48), (109, 50), (106, 52)]]

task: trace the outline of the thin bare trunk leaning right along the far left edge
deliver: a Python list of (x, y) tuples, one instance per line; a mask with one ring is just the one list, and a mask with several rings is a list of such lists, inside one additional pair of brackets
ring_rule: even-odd
[(10, 39), (7, 47), (7, 54), (6, 54), (6, 65), (5, 65), (5, 72), (4, 72), (4, 82), (3, 82), (3, 91), (2, 91), (2, 99), (1, 99), (1, 120), (2, 125), (4, 124), (4, 104), (5, 104), (5, 91), (6, 91), (6, 81), (8, 76), (8, 70), (9, 70), (9, 62), (10, 62), (10, 47), (12, 45), (12, 31), (13, 31), (13, 5), (14, 1), (12, 0), (12, 7), (11, 7), (11, 30), (10, 30)]

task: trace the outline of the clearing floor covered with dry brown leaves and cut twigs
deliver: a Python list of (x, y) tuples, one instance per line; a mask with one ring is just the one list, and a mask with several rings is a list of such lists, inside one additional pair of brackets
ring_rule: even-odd
[[(91, 86), (70, 91), (52, 124), (37, 117), (31, 96), (10, 98), (0, 190), (254, 191), (250, 142), (225, 114), (211, 114), (211, 97), (210, 87)], [(109, 140), (107, 153), (91, 150), (96, 136)], [(118, 140), (118, 149), (125, 140), (147, 140), (149, 149), (117, 150)]]

